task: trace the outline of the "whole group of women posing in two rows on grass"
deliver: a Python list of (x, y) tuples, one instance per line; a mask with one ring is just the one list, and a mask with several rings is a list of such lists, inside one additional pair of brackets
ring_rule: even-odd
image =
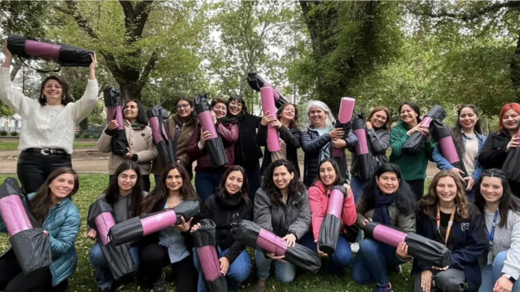
[[(40, 97), (33, 100), (12, 88), (12, 55), (6, 48), (4, 52), (7, 58), (0, 68), (0, 100), (22, 117), (17, 174), (37, 220), (50, 238), (53, 264), (48, 270), (24, 275), (14, 254), (6, 253), (0, 258), (0, 290), (63, 291), (76, 268), (74, 243), (81, 221), (72, 203), (79, 181), (71, 169), (70, 154), (75, 124), (97, 102), (96, 57), (92, 57), (82, 98), (73, 102), (67, 84), (51, 76), (43, 81)], [(417, 104), (401, 104), (400, 121), (393, 127), (388, 109), (374, 107), (366, 122), (375, 169), (369, 179), (360, 175), (356, 136), (352, 132), (345, 135), (343, 128), (335, 127), (330, 108), (321, 101), (307, 103), (303, 128), (298, 128), (295, 104), (286, 103), (276, 113), (258, 117), (249, 113), (239, 96), (214, 98), (211, 114), (228, 160), (223, 167), (214, 167), (205, 149), (210, 133), (200, 126), (193, 101), (182, 98), (175, 108), (167, 123), (177, 141), (177, 161), (163, 166), (157, 158), (145, 108), (138, 100), (124, 104), (128, 153), (110, 154), (109, 186), (99, 197), (113, 206), (118, 222), (173, 208), (187, 200), (201, 204), (197, 218), (183, 218), (179, 225), (128, 244), (139, 267), (141, 290), (165, 291), (162, 268), (170, 266), (177, 290), (205, 291), (191, 236), (201, 219), (216, 223), (220, 269), (228, 287), (239, 288), (252, 271), (252, 261), (245, 246), (233, 239), (230, 223), (245, 219), (282, 237), (288, 247), (300, 243), (314, 250), (323, 258), (324, 273), (342, 276), (352, 265), (353, 279), (359, 284), (375, 283), (376, 291), (393, 291), (388, 274), (399, 272), (401, 264), (411, 257), (405, 243), (396, 248), (368, 237), (362, 239), (356, 226), (362, 230), (369, 221), (417, 232), (452, 251), (451, 262), (444, 268), (413, 260), (415, 291), (463, 291), (465, 286), (470, 291), (520, 291), (520, 287), (514, 287), (520, 275), (520, 183), (499, 170), (508, 152), (520, 145), (519, 104), (503, 107), (499, 130), (488, 137), (483, 136), (475, 105), (459, 109), (452, 136), (466, 177), (428, 135)], [(111, 137), (118, 126), (116, 121), (107, 124), (97, 143), (99, 151), (111, 151)], [(269, 152), (265, 147), (262, 153), (268, 127), (278, 130), (280, 151)], [(417, 155), (403, 151), (414, 132), (428, 137)], [(304, 152), (303, 171), (298, 148)], [(389, 159), (388, 149), (392, 150)], [(350, 170), (345, 150), (352, 152)], [(436, 162), (441, 171), (423, 196), (428, 160)], [(191, 185), (194, 161), (195, 188)], [(151, 191), (150, 174), (155, 181)], [(344, 185), (347, 196), (341, 236), (334, 254), (327, 256), (317, 241), (334, 185)], [(89, 230), (87, 236), (96, 240), (96, 231)], [(266, 290), (271, 271), (282, 282), (290, 282), (295, 276), (295, 266), (283, 256), (257, 249), (254, 259), (255, 291)], [(90, 250), (90, 261), (96, 268), (100, 291), (115, 289), (119, 283), (113, 283), (97, 243)]]

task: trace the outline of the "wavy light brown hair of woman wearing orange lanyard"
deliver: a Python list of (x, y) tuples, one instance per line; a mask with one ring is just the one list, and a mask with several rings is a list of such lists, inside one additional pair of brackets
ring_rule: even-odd
[(466, 192), (460, 180), (449, 170), (442, 170), (438, 172), (432, 179), (428, 193), (419, 201), (419, 208), (423, 210), (424, 214), (431, 219), (437, 218), (437, 206), (439, 205), (439, 196), (437, 195), (437, 184), (439, 180), (444, 177), (450, 177), (457, 186), (457, 195), (454, 198), (457, 212), (455, 213), (455, 220), (460, 222), (470, 218), (470, 201), (467, 200)]

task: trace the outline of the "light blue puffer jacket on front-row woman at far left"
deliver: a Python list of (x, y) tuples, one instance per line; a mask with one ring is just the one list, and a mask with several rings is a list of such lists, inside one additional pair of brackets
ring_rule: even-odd
[[(35, 195), (36, 193), (30, 193), (29, 200)], [(53, 286), (66, 280), (76, 271), (77, 253), (74, 243), (80, 226), (80, 210), (69, 198), (50, 208), (43, 222), (43, 229), (49, 232), (50, 251), (53, 255), (53, 263), (50, 265)], [(0, 231), (7, 232), (1, 219)]]

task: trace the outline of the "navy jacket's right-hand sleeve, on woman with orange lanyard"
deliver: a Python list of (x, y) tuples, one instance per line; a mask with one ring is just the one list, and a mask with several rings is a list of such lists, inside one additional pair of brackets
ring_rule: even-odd
[(470, 221), (470, 230), (466, 235), (466, 246), (453, 251), (450, 265), (453, 268), (464, 270), (467, 265), (478, 262), (478, 257), (486, 251), (486, 233), (484, 231), (484, 220), (482, 214), (476, 207), (471, 207), (474, 212), (473, 220)]

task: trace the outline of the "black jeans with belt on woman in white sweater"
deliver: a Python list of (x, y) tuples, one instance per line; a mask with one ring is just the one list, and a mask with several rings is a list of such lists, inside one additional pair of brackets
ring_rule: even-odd
[(54, 170), (72, 168), (70, 154), (49, 154), (22, 151), (18, 158), (16, 174), (26, 194), (34, 193)]

